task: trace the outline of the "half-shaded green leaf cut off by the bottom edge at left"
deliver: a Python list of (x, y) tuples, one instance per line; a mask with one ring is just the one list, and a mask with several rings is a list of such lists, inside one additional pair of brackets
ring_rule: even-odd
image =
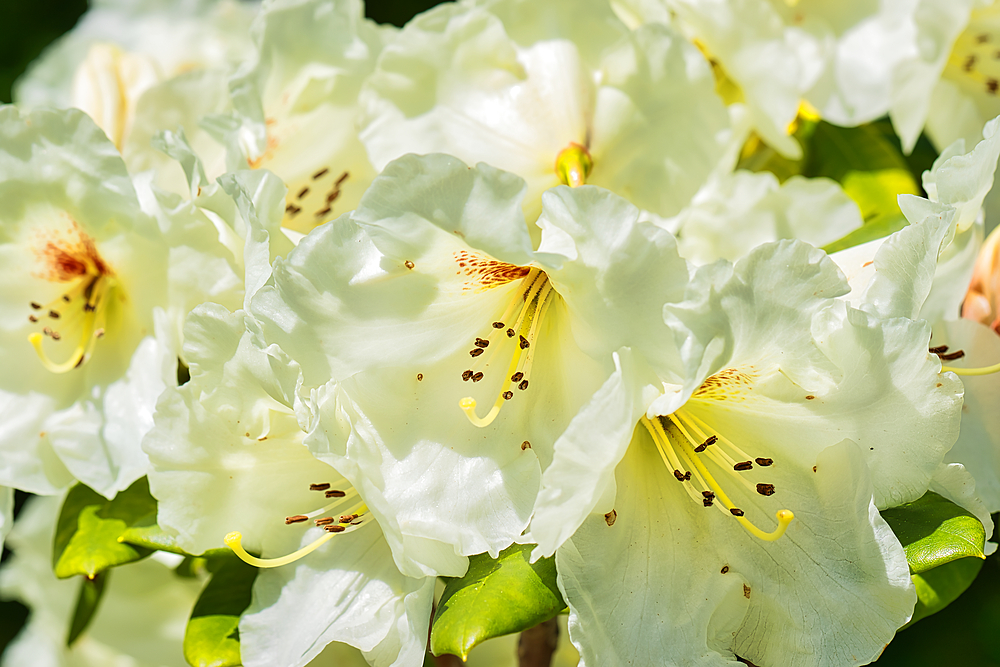
[(240, 665), (240, 614), (250, 605), (257, 568), (229, 554), (213, 559), (214, 574), (194, 604), (184, 631), (184, 659), (192, 667)]

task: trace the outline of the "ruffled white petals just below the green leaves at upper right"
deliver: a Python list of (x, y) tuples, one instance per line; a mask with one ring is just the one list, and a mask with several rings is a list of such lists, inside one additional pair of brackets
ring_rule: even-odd
[(663, 222), (678, 235), (681, 256), (695, 264), (736, 261), (769, 241), (799, 239), (817, 247), (863, 224), (858, 205), (835, 181), (768, 172), (714, 177), (691, 205)]

